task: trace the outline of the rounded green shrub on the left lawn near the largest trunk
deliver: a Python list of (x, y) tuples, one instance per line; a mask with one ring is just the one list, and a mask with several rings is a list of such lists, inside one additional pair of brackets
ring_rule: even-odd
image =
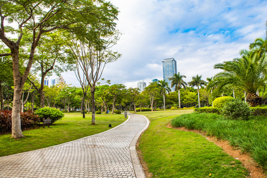
[(43, 118), (51, 119), (52, 124), (57, 121), (57, 120), (61, 120), (64, 117), (63, 112), (55, 109), (55, 108), (41, 108), (41, 109), (37, 109), (35, 114), (37, 114), (40, 117), (40, 121), (43, 122)]

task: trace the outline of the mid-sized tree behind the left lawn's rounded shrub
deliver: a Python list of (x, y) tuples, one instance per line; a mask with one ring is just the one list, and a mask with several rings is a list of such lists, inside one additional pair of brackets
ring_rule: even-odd
[(35, 50), (31, 73), (40, 73), (41, 84), (35, 85), (34, 81), (29, 77), (28, 80), (40, 95), (41, 108), (45, 107), (45, 78), (53, 73), (60, 76), (62, 72), (71, 69), (70, 66), (73, 63), (72, 60), (64, 55), (64, 43), (60, 40), (61, 38), (62, 34), (59, 32), (46, 34), (40, 39)]

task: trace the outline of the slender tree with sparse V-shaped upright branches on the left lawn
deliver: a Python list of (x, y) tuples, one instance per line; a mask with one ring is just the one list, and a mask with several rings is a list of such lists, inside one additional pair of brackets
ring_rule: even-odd
[[(116, 11), (117, 12), (117, 11)], [(113, 20), (116, 13), (114, 12)], [(108, 23), (108, 21), (106, 22)], [(115, 25), (115, 24), (113, 24)], [(112, 27), (112, 26), (111, 26)], [(73, 36), (70, 40), (70, 55), (74, 57), (84, 72), (92, 97), (92, 125), (96, 124), (95, 91), (107, 63), (116, 61), (121, 54), (110, 48), (119, 40), (119, 33), (108, 28), (91, 29), (82, 37)]]

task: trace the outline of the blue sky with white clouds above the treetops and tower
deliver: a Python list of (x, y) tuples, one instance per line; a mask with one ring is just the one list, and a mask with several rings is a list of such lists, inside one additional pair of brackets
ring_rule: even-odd
[[(110, 1), (120, 11), (117, 28), (123, 35), (113, 50), (122, 57), (107, 64), (103, 77), (128, 88), (162, 80), (161, 61), (171, 57), (186, 82), (197, 74), (206, 80), (218, 72), (214, 64), (266, 38), (267, 0)], [(74, 73), (62, 76), (79, 87)]]

